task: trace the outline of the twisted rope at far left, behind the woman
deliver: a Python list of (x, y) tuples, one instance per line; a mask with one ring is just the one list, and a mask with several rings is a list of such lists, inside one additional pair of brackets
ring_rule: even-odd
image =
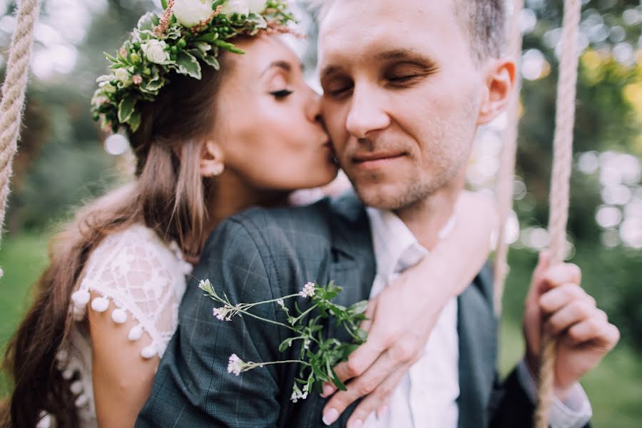
[[(34, 42), (34, 23), (38, 16), (38, 0), (22, 0), (18, 6), (18, 24), (11, 39), (6, 77), (2, 86), (0, 102), (0, 243), (6, 201), (9, 198), (11, 162), (18, 150), (20, 121), (24, 107), (26, 82), (29, 75), (29, 59)], [(0, 269), (0, 277), (2, 270)]]

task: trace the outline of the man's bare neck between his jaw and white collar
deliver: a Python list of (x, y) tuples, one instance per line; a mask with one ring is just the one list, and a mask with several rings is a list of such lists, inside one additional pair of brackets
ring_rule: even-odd
[(464, 175), (460, 174), (437, 192), (413, 205), (396, 210), (395, 213), (407, 225), (419, 244), (427, 250), (432, 250), (439, 241), (439, 232), (454, 215), (457, 198), (463, 189)]

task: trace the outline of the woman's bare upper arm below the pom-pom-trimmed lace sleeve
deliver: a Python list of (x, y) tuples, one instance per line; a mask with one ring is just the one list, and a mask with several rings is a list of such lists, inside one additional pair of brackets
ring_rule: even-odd
[[(92, 300), (99, 297), (92, 293)], [(160, 358), (145, 359), (143, 348), (151, 344), (147, 333), (136, 341), (128, 332), (138, 325), (135, 320), (116, 324), (111, 318), (116, 306), (105, 312), (88, 307), (92, 349), (93, 395), (96, 416), (101, 428), (133, 427), (153, 384)]]

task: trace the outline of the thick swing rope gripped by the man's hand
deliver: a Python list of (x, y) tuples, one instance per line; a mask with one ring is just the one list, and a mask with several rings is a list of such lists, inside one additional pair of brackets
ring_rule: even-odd
[[(566, 254), (566, 223), (569, 218), (570, 179), (573, 161), (580, 14), (580, 0), (564, 1), (564, 22), (562, 24), (560, 71), (555, 116), (553, 175), (551, 177), (551, 213), (549, 215), (551, 264), (553, 265), (562, 263)], [(547, 428), (549, 426), (549, 411), (554, 387), (556, 340), (554, 337), (544, 335), (542, 344), (537, 409), (535, 412), (536, 428)]]

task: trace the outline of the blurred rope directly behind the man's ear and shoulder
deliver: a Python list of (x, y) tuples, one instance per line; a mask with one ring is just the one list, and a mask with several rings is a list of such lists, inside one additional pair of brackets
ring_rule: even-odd
[[(521, 58), (521, 31), (519, 29), (519, 14), (524, 9), (524, 0), (514, 0), (513, 19), (511, 24), (509, 48), (510, 54), (519, 64)], [(504, 297), (504, 286), (509, 265), (507, 262), (509, 243), (506, 241), (506, 221), (509, 218), (513, 205), (513, 183), (515, 178), (515, 161), (517, 157), (517, 133), (519, 128), (519, 90), (521, 79), (519, 78), (519, 65), (515, 74), (515, 90), (507, 106), (508, 126), (504, 131), (504, 143), (501, 151), (501, 166), (497, 177), (497, 210), (499, 213), (499, 233), (495, 253), (495, 277), (494, 277), (494, 298), (495, 313), (501, 315), (501, 300)]]

